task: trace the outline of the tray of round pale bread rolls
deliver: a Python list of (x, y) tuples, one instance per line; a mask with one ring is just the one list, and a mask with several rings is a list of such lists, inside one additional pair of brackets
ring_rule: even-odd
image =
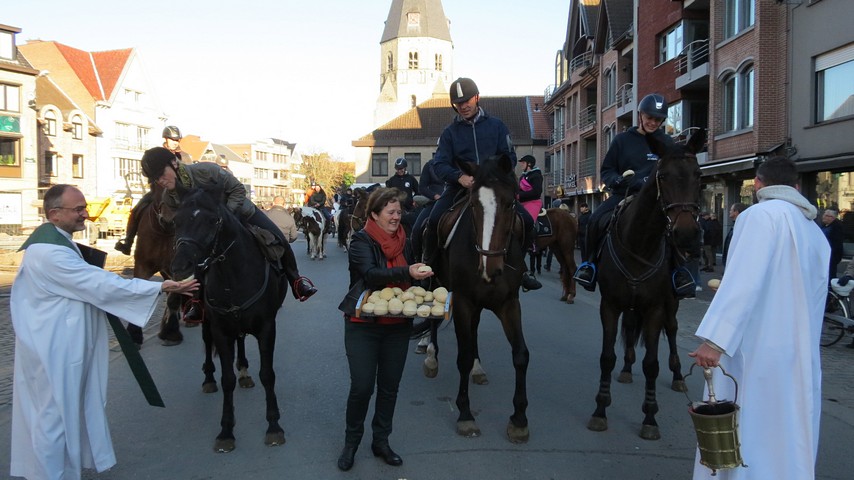
[(448, 320), (451, 316), (453, 294), (445, 287), (427, 290), (423, 287), (386, 287), (365, 290), (356, 304), (356, 316), (432, 318)]

